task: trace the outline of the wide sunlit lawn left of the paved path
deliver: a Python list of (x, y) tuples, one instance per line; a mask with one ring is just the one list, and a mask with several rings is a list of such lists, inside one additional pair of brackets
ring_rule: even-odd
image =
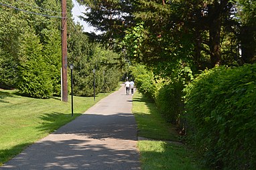
[(0, 89), (0, 166), (25, 147), (46, 137), (72, 121), (109, 93), (93, 97), (74, 96), (74, 116), (68, 103), (60, 97), (34, 99), (22, 97), (15, 90)]

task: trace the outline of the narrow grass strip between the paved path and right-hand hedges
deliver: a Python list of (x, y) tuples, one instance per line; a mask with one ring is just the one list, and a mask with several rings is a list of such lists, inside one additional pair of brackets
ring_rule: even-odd
[[(186, 145), (168, 143), (178, 141), (175, 127), (161, 117), (154, 103), (141, 93), (133, 95), (133, 113), (138, 124), (139, 137), (159, 141), (139, 141), (141, 169), (202, 170), (191, 149)], [(162, 141), (161, 141), (162, 140)]]

